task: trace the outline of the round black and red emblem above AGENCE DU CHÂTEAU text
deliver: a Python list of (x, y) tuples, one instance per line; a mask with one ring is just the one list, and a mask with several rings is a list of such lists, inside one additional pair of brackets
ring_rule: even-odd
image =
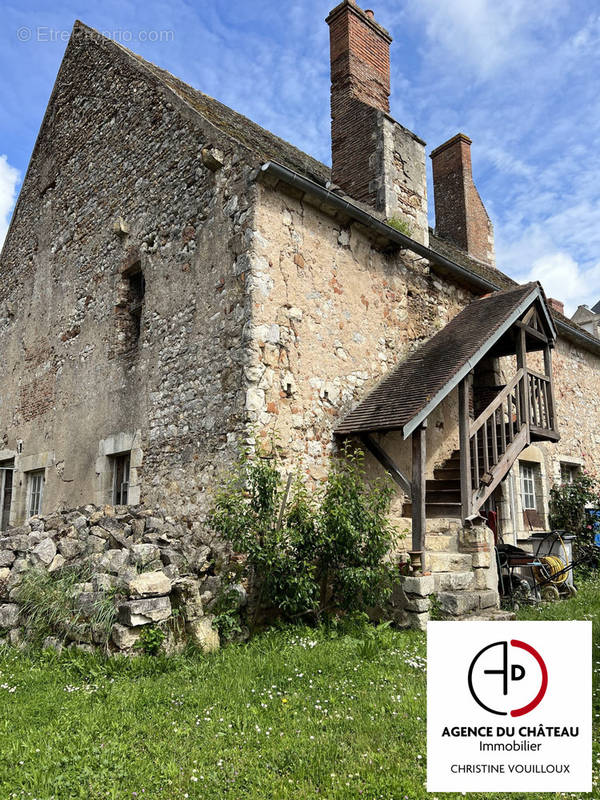
[(543, 700), (548, 669), (539, 652), (518, 639), (483, 647), (468, 673), (469, 691), (490, 714), (522, 717)]

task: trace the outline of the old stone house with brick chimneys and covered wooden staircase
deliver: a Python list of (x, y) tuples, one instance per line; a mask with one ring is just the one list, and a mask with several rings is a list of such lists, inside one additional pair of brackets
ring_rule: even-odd
[(429, 228), (391, 38), (354, 0), (327, 23), (331, 169), (75, 23), (0, 258), (0, 527), (198, 518), (240, 442), (276, 433), (320, 481), (346, 437), (436, 587), (493, 604), (469, 523), (544, 528), (551, 484), (595, 469), (600, 340), (496, 267), (462, 133)]

